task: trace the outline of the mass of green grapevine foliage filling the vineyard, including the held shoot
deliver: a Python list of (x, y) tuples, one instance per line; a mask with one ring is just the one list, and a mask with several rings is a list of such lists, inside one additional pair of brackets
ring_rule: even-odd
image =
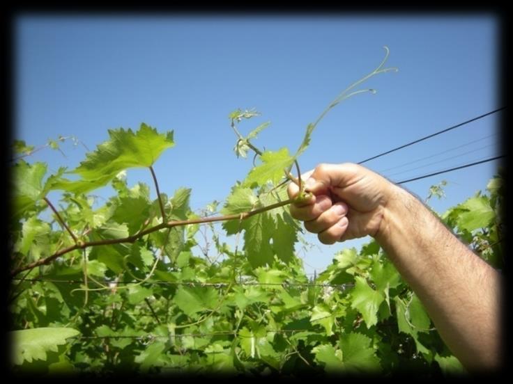
[[(383, 63), (372, 73), (385, 72)], [(360, 92), (351, 88), (328, 110)], [(246, 136), (238, 128), (254, 115), (238, 110), (230, 121), (237, 157), (254, 152), (256, 163), (224, 203), (196, 211), (190, 189), (169, 195), (158, 189), (153, 164), (175, 145), (172, 131), (146, 124), (109, 130), (77, 168), (52, 174), (46, 163), (29, 161), (33, 147), (15, 143), (9, 221), (15, 371), (463, 371), (375, 241), (335, 253), (318, 275), (305, 274), (298, 257), (303, 230), (289, 214), (284, 176), (320, 119), (307, 126), (296, 152), (261, 151), (252, 141), (268, 123)], [(130, 168), (147, 168), (154, 185), (128, 185)], [(91, 191), (107, 185), (114, 193), (100, 204)], [(55, 191), (54, 205), (48, 196)], [(502, 178), (491, 179), (487, 191), (441, 220), (500, 269)]]

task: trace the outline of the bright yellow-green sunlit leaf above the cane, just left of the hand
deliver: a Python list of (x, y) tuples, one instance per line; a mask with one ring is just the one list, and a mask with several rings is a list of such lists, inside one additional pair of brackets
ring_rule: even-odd
[(278, 184), (285, 175), (284, 170), (289, 168), (294, 161), (286, 147), (276, 152), (265, 151), (261, 154), (260, 159), (262, 163), (250, 170), (250, 173), (243, 182), (243, 186), (252, 186), (254, 184), (262, 186), (269, 181), (273, 184)]

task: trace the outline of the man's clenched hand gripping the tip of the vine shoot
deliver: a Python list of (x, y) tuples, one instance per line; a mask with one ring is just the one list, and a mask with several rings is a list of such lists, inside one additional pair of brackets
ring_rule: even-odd
[[(306, 230), (316, 233), (321, 243), (378, 235), (394, 184), (353, 163), (320, 164), (302, 179), (312, 195), (293, 203), (291, 215), (304, 221)], [(289, 197), (298, 192), (291, 183)]]

